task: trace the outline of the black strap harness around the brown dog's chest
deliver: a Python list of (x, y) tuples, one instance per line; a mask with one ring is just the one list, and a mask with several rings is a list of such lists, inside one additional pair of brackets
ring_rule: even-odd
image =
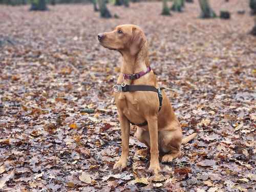
[[(115, 84), (115, 86), (113, 86), (113, 91), (114, 92), (134, 92), (134, 91), (153, 91), (156, 92), (158, 95), (158, 99), (159, 99), (159, 110), (161, 110), (162, 108), (162, 100), (163, 100), (163, 96), (161, 93), (161, 90), (163, 90), (164, 88), (155, 88), (154, 86), (143, 86), (143, 85), (139, 85), (139, 86), (135, 86), (135, 85), (129, 85), (129, 84)], [(147, 121), (140, 123), (140, 124), (135, 124), (133, 122), (130, 121), (131, 124), (133, 125), (137, 125), (137, 126), (145, 126), (147, 125)]]

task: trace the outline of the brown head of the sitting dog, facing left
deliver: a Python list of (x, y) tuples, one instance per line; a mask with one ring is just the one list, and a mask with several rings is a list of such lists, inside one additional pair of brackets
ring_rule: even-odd
[(114, 31), (99, 33), (98, 40), (105, 48), (134, 56), (142, 49), (146, 37), (136, 25), (120, 25)]

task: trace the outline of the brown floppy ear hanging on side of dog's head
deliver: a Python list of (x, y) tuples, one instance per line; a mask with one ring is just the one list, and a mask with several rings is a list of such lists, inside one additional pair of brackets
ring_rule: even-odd
[(139, 53), (139, 51), (141, 50), (141, 48), (143, 47), (145, 41), (146, 41), (146, 37), (144, 35), (144, 33), (138, 29), (138, 28), (133, 28), (133, 34), (132, 34), (132, 38), (131, 38), (131, 45), (130, 45), (130, 52), (131, 55), (136, 55)]

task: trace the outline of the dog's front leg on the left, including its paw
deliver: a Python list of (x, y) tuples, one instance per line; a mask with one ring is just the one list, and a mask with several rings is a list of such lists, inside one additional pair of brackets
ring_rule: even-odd
[(119, 118), (121, 124), (122, 154), (119, 161), (115, 163), (114, 169), (121, 171), (127, 166), (127, 159), (129, 157), (130, 122), (120, 112)]

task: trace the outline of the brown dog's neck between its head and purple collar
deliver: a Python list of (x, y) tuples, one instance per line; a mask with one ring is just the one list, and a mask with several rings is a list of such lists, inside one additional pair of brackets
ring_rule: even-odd
[(140, 52), (134, 56), (130, 52), (123, 52), (123, 65), (121, 67), (121, 73), (135, 74), (141, 71), (146, 71), (150, 66), (148, 59), (147, 46), (143, 46)]

